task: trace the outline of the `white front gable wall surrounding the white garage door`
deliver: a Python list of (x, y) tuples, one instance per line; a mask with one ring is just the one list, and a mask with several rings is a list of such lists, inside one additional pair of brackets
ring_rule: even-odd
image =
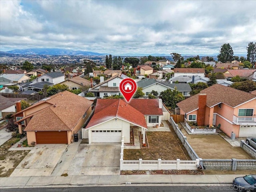
[[(131, 125), (132, 126), (132, 125)], [(124, 136), (124, 143), (130, 143), (130, 123), (120, 120), (112, 119), (108, 122), (99, 124), (89, 130), (89, 143), (92, 142), (92, 130), (122, 130), (122, 136)], [(120, 140), (121, 142), (121, 140)]]

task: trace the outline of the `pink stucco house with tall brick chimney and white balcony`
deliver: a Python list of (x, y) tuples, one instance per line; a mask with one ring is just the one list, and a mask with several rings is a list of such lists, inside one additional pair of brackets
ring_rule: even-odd
[(220, 124), (228, 136), (256, 135), (256, 95), (215, 84), (177, 103), (185, 121), (197, 121), (198, 126)]

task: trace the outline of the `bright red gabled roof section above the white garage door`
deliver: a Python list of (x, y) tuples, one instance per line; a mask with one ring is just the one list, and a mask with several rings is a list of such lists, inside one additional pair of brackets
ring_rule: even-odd
[[(111, 103), (111, 104), (110, 104)], [(106, 107), (106, 104), (110, 104)], [(102, 122), (106, 122), (113, 118), (119, 118), (140, 127), (147, 128), (144, 115), (124, 102), (121, 99), (98, 99), (92, 119), (86, 126), (86, 129), (96, 126)]]

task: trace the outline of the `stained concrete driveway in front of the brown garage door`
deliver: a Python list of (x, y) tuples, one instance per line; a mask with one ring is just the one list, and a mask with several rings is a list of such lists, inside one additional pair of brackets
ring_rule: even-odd
[(66, 148), (66, 144), (37, 144), (10, 177), (50, 176)]

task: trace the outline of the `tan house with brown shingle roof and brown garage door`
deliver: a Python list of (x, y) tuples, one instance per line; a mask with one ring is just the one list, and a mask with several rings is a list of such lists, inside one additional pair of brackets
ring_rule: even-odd
[[(69, 91), (45, 98), (14, 114), (28, 144), (70, 144), (92, 113), (92, 101)], [(81, 137), (81, 133), (78, 136)]]

